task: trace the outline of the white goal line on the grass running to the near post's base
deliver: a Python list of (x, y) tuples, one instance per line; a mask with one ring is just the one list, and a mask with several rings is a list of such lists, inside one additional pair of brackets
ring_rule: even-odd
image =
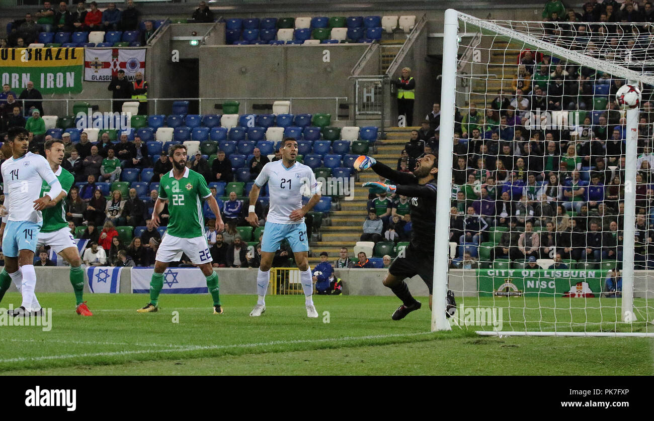
[[(296, 339), (293, 341), (270, 341), (270, 342), (260, 342), (260, 343), (241, 343), (233, 345), (192, 345), (189, 347), (184, 347), (180, 349), (144, 349), (141, 351), (115, 351), (115, 352), (93, 352), (93, 353), (84, 353), (84, 354), (64, 354), (64, 355), (48, 355), (48, 356), (37, 356), (37, 357), (16, 357), (16, 358), (6, 358), (0, 360), (0, 364), (7, 362), (22, 362), (22, 361), (44, 361), (44, 360), (67, 360), (70, 358), (86, 358), (94, 356), (114, 356), (114, 355), (132, 355), (132, 354), (160, 354), (162, 352), (187, 352), (187, 351), (205, 351), (209, 349), (238, 349), (238, 348), (254, 348), (254, 347), (266, 347), (271, 345), (282, 345), (282, 344), (296, 344), (296, 343), (324, 343), (324, 342), (341, 342), (341, 341), (357, 341), (360, 339), (385, 339), (388, 337), (407, 337), (407, 336), (418, 336), (418, 335), (428, 335), (432, 332), (417, 332), (413, 334), (391, 334), (391, 335), (368, 335), (368, 336), (346, 336), (346, 337), (333, 337), (326, 339)], [(300, 350), (301, 351), (301, 350)]]

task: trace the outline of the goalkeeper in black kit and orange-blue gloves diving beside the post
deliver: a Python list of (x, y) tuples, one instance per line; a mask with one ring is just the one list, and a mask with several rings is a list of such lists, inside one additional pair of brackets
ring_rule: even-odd
[[(371, 193), (398, 193), (411, 198), (411, 221), (413, 230), (411, 242), (404, 253), (400, 253), (390, 266), (384, 278), (384, 285), (402, 300), (402, 305), (393, 313), (391, 319), (400, 320), (421, 307), (421, 302), (411, 296), (405, 278), (420, 275), (429, 288), (429, 307), (432, 307), (432, 288), (434, 279), (434, 241), (436, 230), (436, 173), (438, 172), (436, 157), (432, 154), (423, 155), (415, 164), (413, 174), (400, 172), (378, 163), (373, 157), (362, 155), (354, 161), (354, 168), (374, 172), (387, 178), (391, 183), (379, 181), (364, 183)], [(449, 188), (449, 186), (448, 186)], [(443, 239), (447, 239), (443, 233)], [(441, 240), (445, 241), (445, 240)], [(454, 314), (456, 303), (452, 291), (447, 291), (446, 315)]]

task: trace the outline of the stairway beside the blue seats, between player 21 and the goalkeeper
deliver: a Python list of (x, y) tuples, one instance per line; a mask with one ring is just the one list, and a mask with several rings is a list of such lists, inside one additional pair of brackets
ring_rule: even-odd
[[(419, 127), (390, 127), (386, 140), (378, 140), (377, 152), (372, 154), (377, 161), (395, 168), (398, 158), (409, 140), (409, 133)], [(359, 172), (354, 183), (354, 200), (339, 199), (340, 210), (330, 212), (330, 225), (320, 227), (320, 241), (311, 242), (311, 255), (309, 265), (313, 268), (320, 262), (320, 252), (329, 253), (329, 260), (338, 258), (338, 252), (345, 246), (353, 257), (354, 244), (359, 241), (362, 226), (366, 219), (366, 202), (368, 202), (368, 189), (361, 187), (366, 181), (377, 181), (379, 176), (372, 171)], [(324, 220), (323, 220), (324, 221)], [(370, 256), (369, 256), (370, 257)]]

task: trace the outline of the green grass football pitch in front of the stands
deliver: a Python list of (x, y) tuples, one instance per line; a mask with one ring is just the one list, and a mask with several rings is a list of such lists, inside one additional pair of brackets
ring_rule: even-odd
[[(75, 313), (72, 294), (39, 294), (41, 304), (52, 308), (51, 330), (0, 326), (0, 373), (654, 375), (654, 338), (481, 337), (477, 326), (432, 334), (426, 298), (419, 298), (420, 311), (397, 322), (390, 320), (398, 306), (394, 297), (317, 296), (318, 319), (307, 319), (301, 296), (268, 296), (259, 318), (249, 317), (254, 296), (223, 296), (223, 315), (212, 314), (207, 295), (162, 295), (160, 311), (146, 314), (135, 311), (148, 301), (145, 295), (86, 298), (93, 317)], [(553, 302), (511, 300), (513, 308), (503, 315), (511, 323), (505, 322), (504, 330), (525, 330), (524, 320), (534, 329), (551, 330), (555, 318), (565, 330), (570, 326), (565, 320), (585, 318), (591, 323), (587, 330), (610, 331), (608, 320), (615, 317), (610, 307), (565, 308), (566, 302), (579, 307), (581, 301), (558, 300), (555, 312), (543, 309)], [(464, 305), (476, 302), (466, 299)], [(497, 302), (488, 298), (479, 304)], [(20, 305), (18, 293), (8, 293), (0, 307), (9, 304)], [(525, 304), (528, 310), (516, 308)], [(651, 332), (652, 325), (632, 330)]]

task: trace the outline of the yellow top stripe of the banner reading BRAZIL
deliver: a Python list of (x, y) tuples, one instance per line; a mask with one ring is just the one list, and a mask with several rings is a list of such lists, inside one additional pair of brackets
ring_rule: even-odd
[(84, 48), (0, 48), (1, 67), (84, 65)]

